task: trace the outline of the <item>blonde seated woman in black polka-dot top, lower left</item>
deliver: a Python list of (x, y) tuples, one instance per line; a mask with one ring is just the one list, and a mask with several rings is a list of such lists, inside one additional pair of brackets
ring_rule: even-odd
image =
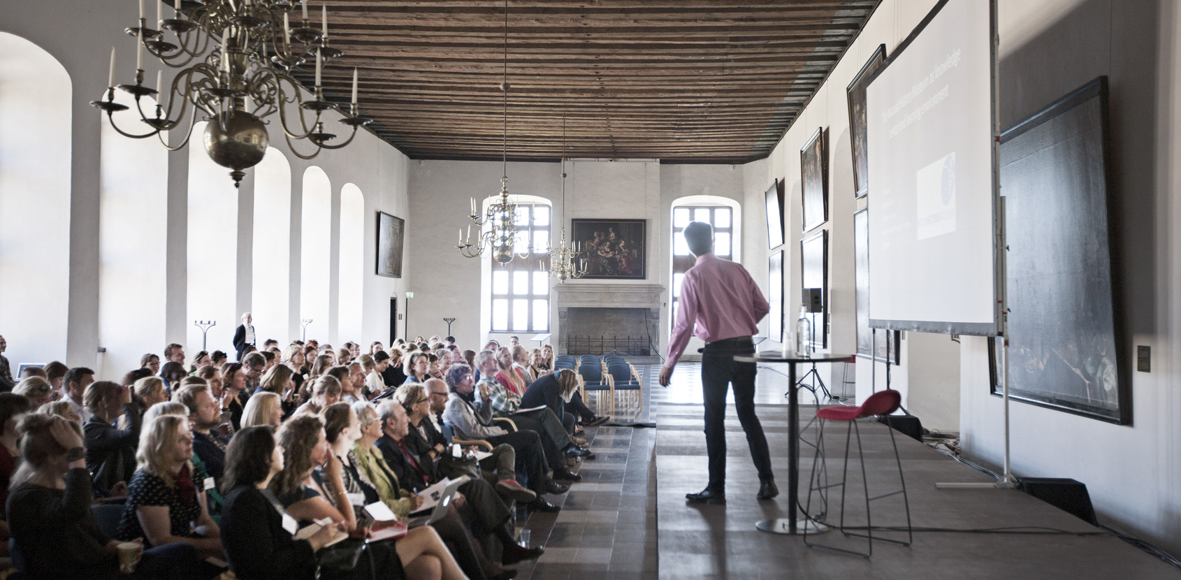
[(116, 537), (143, 537), (154, 547), (184, 542), (201, 558), (222, 558), (217, 522), (205, 508), (204, 477), (191, 458), (187, 416), (161, 415), (145, 425)]

